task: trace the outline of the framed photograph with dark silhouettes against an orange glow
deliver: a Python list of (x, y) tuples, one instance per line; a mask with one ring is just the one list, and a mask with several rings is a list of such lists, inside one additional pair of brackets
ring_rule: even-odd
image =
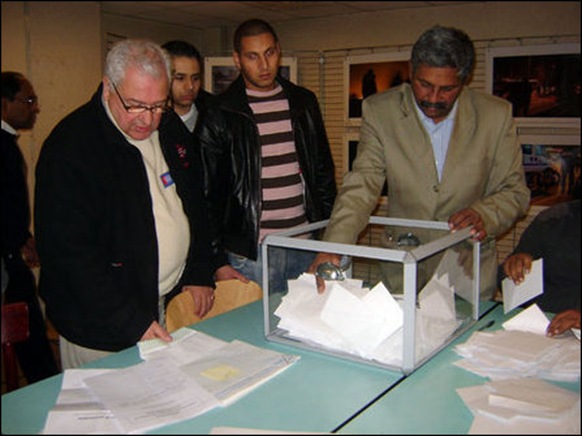
[(409, 82), (410, 51), (351, 56), (344, 63), (346, 120), (362, 123), (362, 101), (377, 92)]

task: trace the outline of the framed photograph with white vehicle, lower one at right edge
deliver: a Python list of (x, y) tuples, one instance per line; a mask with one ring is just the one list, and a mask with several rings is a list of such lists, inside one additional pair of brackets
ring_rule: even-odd
[(580, 137), (522, 135), (520, 141), (531, 204), (573, 200), (574, 191), (580, 189)]

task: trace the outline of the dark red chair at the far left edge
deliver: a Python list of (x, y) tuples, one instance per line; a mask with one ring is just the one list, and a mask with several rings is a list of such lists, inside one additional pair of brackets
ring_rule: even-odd
[(28, 339), (28, 305), (7, 303), (2, 305), (2, 362), (6, 377), (6, 391), (18, 389), (18, 364), (14, 344)]

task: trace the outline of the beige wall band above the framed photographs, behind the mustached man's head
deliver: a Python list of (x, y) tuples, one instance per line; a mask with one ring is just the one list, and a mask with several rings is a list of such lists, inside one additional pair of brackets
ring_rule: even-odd
[[(444, 2), (447, 3), (447, 2)], [(466, 31), (473, 40), (580, 36), (580, 2), (473, 2), (425, 9), (351, 14), (276, 25), (286, 50), (334, 50), (413, 43), (441, 24)]]

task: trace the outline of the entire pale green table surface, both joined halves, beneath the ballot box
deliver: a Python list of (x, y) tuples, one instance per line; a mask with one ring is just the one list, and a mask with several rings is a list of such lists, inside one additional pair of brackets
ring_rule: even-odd
[[(265, 339), (262, 302), (195, 324), (196, 330), (231, 341), (297, 354), (301, 359), (234, 404), (161, 427), (153, 434), (208, 434), (214, 427), (339, 434), (465, 434), (473, 416), (455, 389), (485, 379), (452, 362), (454, 346), (479, 328), (500, 328), (509, 316), (502, 305), (484, 303), (482, 317), (412, 374), (340, 359)], [(137, 347), (92, 362), (88, 368), (122, 368), (140, 362)], [(42, 430), (59, 394), (62, 375), (2, 396), (2, 433)], [(580, 392), (580, 381), (561, 383)]]

